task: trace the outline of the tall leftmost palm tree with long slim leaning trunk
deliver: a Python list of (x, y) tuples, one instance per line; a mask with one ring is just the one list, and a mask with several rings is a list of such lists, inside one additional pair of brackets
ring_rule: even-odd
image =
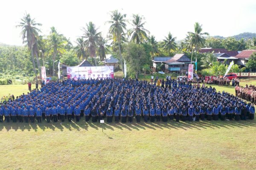
[(36, 37), (38, 37), (38, 32), (41, 32), (37, 26), (41, 26), (42, 24), (36, 23), (35, 19), (32, 19), (29, 14), (24, 14), (23, 18), (21, 18), (21, 22), (16, 27), (21, 27), (22, 31), (20, 34), (22, 35), (23, 44), (27, 43), (29, 51), (31, 53), (35, 79), (37, 81), (37, 73), (35, 70), (35, 57), (34, 57), (34, 45), (36, 42)]

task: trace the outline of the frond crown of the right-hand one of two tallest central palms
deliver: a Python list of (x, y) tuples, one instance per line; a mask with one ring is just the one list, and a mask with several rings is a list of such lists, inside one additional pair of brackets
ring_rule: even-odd
[(131, 25), (133, 28), (131, 28), (129, 32), (129, 37), (131, 37), (131, 40), (136, 41), (137, 44), (140, 42), (143, 42), (143, 40), (147, 39), (147, 34), (150, 34), (148, 30), (144, 28), (145, 18), (143, 16), (140, 16), (138, 14), (132, 15), (133, 20), (131, 21)]

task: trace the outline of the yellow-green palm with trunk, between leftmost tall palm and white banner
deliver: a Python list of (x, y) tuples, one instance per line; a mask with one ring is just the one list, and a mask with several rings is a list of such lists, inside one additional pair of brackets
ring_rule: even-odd
[[(52, 28), (54, 28), (54, 27), (52, 27)], [(64, 48), (64, 46), (66, 44), (67, 44), (67, 42), (62, 39), (61, 34), (58, 34), (56, 30), (51, 31), (51, 34), (49, 36), (49, 48), (48, 48), (47, 52), (53, 54), (52, 76), (55, 76), (55, 58), (58, 54), (62, 54), (66, 51)]]

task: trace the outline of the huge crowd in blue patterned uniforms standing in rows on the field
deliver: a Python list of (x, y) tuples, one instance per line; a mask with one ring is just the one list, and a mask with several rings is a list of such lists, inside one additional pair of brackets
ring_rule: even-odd
[(0, 122), (79, 122), (83, 116), (86, 122), (106, 118), (108, 123), (113, 119), (131, 123), (134, 118), (136, 122), (254, 119), (254, 104), (238, 96), (199, 83), (166, 82), (161, 86), (138, 79), (48, 82), (40, 90), (1, 104)]

